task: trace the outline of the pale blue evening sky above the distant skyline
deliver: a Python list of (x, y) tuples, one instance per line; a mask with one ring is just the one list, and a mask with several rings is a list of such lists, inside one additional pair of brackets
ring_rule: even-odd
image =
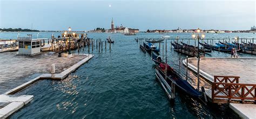
[(110, 29), (114, 25), (147, 29), (250, 30), (256, 2), (245, 1), (63, 1), (0, 0), (0, 28), (37, 30)]

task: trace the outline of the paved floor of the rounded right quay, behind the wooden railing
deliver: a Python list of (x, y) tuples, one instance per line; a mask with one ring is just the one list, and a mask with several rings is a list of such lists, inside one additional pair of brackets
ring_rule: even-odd
[[(197, 67), (197, 58), (188, 59)], [(256, 58), (201, 58), (200, 72), (214, 75), (240, 76), (239, 83), (256, 84)]]

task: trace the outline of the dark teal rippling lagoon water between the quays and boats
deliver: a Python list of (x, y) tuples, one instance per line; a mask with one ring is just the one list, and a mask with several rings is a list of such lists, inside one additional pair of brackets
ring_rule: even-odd
[[(25, 37), (28, 32), (20, 32)], [(37, 38), (37, 32), (33, 32)], [(51, 32), (39, 32), (39, 38), (50, 38)], [(60, 35), (54, 33), (55, 37)], [(191, 38), (191, 33), (138, 33), (124, 36), (114, 33), (88, 33), (89, 38), (102, 41), (114, 39), (111, 51), (94, 50), (89, 62), (79, 67), (63, 81), (42, 80), (16, 95), (33, 95), (35, 99), (10, 118), (239, 118), (228, 106), (205, 106), (185, 94), (176, 93), (170, 102), (156, 80), (154, 63), (147, 53), (139, 49), (134, 38), (160, 38), (163, 35)], [(206, 38), (255, 38), (253, 33), (206, 33)], [(17, 39), (17, 32), (0, 33), (0, 39)], [(255, 42), (254, 42), (255, 43)], [(193, 43), (191, 43), (193, 44)], [(108, 45), (107, 45), (108, 46)], [(158, 46), (158, 44), (156, 45)], [(162, 47), (162, 46), (161, 46)], [(179, 53), (170, 50), (167, 41), (169, 64), (179, 68)], [(96, 48), (96, 47), (95, 47)], [(80, 50), (82, 51), (82, 49)], [(77, 51), (72, 51), (77, 53)], [(80, 52), (81, 53), (81, 52)], [(88, 53), (84, 48), (83, 53)], [(161, 54), (161, 53), (160, 53)], [(184, 59), (186, 55), (181, 54)], [(230, 57), (228, 53), (212, 52), (206, 57)], [(239, 54), (239, 57), (255, 57)], [(185, 77), (181, 65), (181, 75)], [(196, 86), (196, 76), (189, 72), (189, 82)], [(201, 86), (208, 87), (201, 81)]]

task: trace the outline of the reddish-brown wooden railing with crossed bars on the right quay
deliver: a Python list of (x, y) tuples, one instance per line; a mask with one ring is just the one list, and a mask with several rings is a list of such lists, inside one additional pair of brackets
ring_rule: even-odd
[[(238, 83), (239, 76), (214, 76), (212, 102), (256, 102), (256, 84)], [(226, 101), (225, 101), (226, 100)]]

